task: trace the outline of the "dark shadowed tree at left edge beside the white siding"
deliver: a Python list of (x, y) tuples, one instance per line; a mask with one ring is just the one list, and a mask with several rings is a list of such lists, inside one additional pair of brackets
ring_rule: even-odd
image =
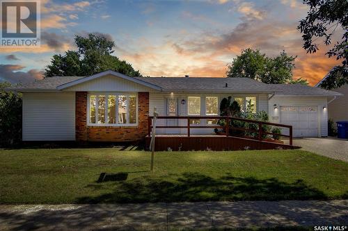
[(10, 83), (0, 83), (0, 146), (22, 139), (22, 95), (7, 91), (8, 87)]

